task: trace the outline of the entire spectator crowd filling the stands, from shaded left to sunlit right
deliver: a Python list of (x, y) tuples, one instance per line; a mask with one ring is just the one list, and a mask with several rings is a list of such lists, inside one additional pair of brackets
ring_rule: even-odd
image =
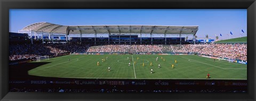
[(199, 53), (214, 57), (247, 61), (247, 44), (183, 44), (183, 45), (95, 45), (90, 44), (15, 44), (9, 47), (9, 60), (58, 56), (60, 53), (85, 52), (174, 52)]

